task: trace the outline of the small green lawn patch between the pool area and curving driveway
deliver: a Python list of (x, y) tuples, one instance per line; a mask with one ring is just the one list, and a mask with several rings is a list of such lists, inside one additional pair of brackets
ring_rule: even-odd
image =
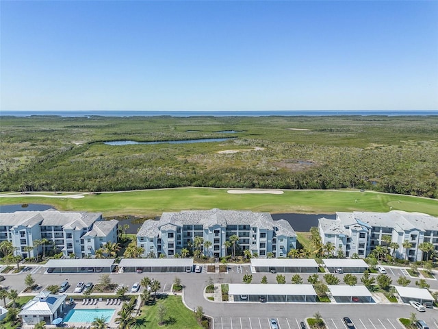
[[(164, 304), (166, 306), (167, 314), (166, 319), (168, 324), (166, 326), (158, 325), (158, 305)], [(169, 319), (172, 317), (172, 319)], [(157, 300), (157, 303), (152, 306), (143, 306), (142, 315), (139, 317), (140, 320), (144, 320), (144, 328), (174, 328), (174, 329), (185, 329), (185, 328), (202, 328), (199, 326), (196, 317), (192, 310), (186, 308), (181, 301), (181, 297), (168, 295), (164, 299)]]

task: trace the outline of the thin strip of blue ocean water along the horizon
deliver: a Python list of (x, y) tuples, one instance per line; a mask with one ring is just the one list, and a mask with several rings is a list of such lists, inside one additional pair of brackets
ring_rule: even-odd
[(369, 111), (350, 111), (350, 110), (302, 110), (302, 111), (0, 111), (0, 116), (14, 116), (14, 117), (31, 117), (34, 115), (51, 115), (57, 117), (269, 117), (269, 116), (339, 116), (339, 115), (384, 115), (387, 117), (396, 116), (429, 116), (438, 115), (438, 110), (369, 110)]

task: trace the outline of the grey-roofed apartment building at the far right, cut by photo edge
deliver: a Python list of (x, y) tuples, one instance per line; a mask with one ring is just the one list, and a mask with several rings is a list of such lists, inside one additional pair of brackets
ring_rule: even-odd
[[(318, 219), (318, 228), (322, 243), (332, 243), (335, 252), (342, 250), (347, 257), (368, 256), (377, 245), (385, 245), (383, 236), (390, 237), (389, 243), (398, 243), (392, 251), (396, 258), (422, 260), (418, 245), (424, 242), (438, 250), (438, 218), (418, 212), (337, 212), (335, 220)], [(411, 247), (404, 248), (404, 241)]]

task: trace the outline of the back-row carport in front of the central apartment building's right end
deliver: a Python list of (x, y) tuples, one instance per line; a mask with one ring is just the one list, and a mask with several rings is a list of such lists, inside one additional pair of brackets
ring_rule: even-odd
[(269, 272), (270, 269), (283, 273), (318, 272), (318, 263), (314, 259), (251, 258), (251, 267), (254, 267), (256, 272)]

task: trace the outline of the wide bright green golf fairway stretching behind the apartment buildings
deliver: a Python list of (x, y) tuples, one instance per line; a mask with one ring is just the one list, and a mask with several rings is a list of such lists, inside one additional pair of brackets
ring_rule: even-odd
[(282, 195), (229, 194), (227, 188), (170, 188), (123, 193), (85, 194), (81, 199), (0, 197), (2, 204), (51, 204), (59, 210), (103, 215), (161, 215), (164, 211), (230, 209), (262, 212), (334, 213), (405, 210), (438, 216), (438, 200), (360, 191), (284, 191)]

